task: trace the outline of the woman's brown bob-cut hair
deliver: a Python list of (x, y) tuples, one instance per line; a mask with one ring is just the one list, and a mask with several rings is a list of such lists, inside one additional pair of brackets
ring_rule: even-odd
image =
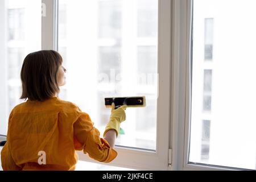
[(22, 96), (20, 99), (44, 101), (60, 92), (57, 72), (63, 59), (56, 51), (32, 52), (24, 59), (20, 78)]

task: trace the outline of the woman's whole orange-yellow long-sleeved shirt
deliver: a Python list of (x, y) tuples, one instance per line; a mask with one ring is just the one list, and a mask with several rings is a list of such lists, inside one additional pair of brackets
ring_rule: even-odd
[[(11, 111), (7, 142), (1, 152), (3, 170), (74, 170), (76, 150), (90, 158), (111, 162), (117, 152), (100, 138), (88, 114), (71, 102), (52, 97), (30, 101)], [(46, 164), (39, 164), (39, 152)]]

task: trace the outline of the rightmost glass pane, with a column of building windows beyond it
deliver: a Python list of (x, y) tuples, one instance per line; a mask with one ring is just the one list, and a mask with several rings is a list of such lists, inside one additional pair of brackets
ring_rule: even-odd
[(256, 169), (255, 7), (193, 1), (191, 163)]

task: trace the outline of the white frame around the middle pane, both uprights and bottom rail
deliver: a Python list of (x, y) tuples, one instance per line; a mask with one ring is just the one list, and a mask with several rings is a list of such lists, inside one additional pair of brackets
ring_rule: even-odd
[[(57, 0), (42, 0), (46, 16), (42, 17), (42, 49), (57, 49)], [(157, 110), (156, 152), (126, 147), (115, 147), (118, 156), (107, 165), (142, 169), (167, 170), (170, 144), (170, 71), (171, 71), (171, 1), (159, 0), (158, 17), (158, 73), (159, 97)], [(79, 160), (94, 162), (82, 152)], [(102, 164), (102, 163), (101, 163)]]

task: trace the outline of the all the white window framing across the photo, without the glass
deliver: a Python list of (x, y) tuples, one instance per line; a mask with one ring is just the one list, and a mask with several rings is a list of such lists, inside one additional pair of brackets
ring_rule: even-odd
[[(193, 0), (158, 1), (159, 97), (156, 152), (116, 147), (118, 157), (107, 165), (142, 170), (235, 170), (236, 168), (188, 163)], [(57, 50), (58, 0), (42, 0), (42, 3), (46, 6), (46, 16), (42, 16), (42, 49)], [(2, 37), (4, 35), (0, 34)], [(5, 44), (0, 43), (0, 48), (5, 49)], [(6, 55), (4, 53), (0, 56)], [(5, 67), (0, 67), (1, 70), (5, 73), (6, 64)], [(0, 77), (0, 82), (5, 81), (5, 77)], [(6, 92), (7, 90), (0, 90), (1, 98), (6, 98)], [(6, 119), (5, 109), (1, 109), (2, 121)], [(80, 160), (97, 163), (88, 155), (78, 153)]]

